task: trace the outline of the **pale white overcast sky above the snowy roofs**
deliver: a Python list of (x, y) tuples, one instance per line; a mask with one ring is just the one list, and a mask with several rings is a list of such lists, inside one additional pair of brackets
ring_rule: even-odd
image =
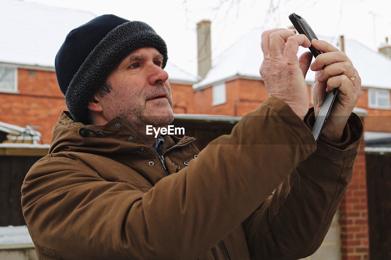
[[(319, 39), (344, 35), (377, 51), (391, 36), (389, 0), (23, 1), (144, 21), (166, 41), (169, 60), (193, 74), (197, 74), (196, 23), (201, 20), (212, 21), (212, 59), (254, 27), (260, 33), (290, 27), (292, 12), (305, 18)], [(349, 50), (345, 52), (349, 55)]]

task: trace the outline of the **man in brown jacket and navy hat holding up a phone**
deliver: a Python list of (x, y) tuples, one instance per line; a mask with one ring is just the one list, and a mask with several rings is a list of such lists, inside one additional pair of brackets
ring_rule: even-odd
[[(324, 41), (312, 44), (325, 53), (310, 65), (310, 53), (296, 56), (310, 46), (303, 35), (264, 32), (260, 73), (271, 97), (199, 152), (192, 137), (145, 133), (145, 125), (173, 120), (167, 48), (151, 27), (104, 15), (72, 30), (56, 56), (69, 112), (22, 186), (38, 256), (314, 253), (352, 178), (362, 124), (352, 113), (361, 84), (352, 62)], [(308, 111), (309, 67), (319, 71), (315, 111)], [(335, 88), (338, 100), (316, 142), (309, 128), (325, 90)]]

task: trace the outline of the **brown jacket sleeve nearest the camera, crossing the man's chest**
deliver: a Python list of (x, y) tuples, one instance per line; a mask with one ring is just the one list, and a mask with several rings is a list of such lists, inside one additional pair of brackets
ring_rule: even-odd
[(315, 148), (305, 123), (271, 97), (145, 192), (104, 180), (75, 153), (49, 155), (24, 180), (23, 214), (43, 258), (195, 259)]

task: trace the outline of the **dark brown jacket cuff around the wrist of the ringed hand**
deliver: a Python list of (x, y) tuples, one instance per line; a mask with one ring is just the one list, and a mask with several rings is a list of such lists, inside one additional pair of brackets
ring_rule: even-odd
[[(304, 122), (306, 123), (308, 128), (312, 130), (312, 127), (314, 126), (315, 123), (315, 112), (313, 107), (311, 107), (308, 110), (308, 113), (304, 118)], [(362, 121), (359, 118), (359, 116), (357, 116), (352, 112), (343, 130), (341, 142), (339, 143), (332, 142), (322, 134), (319, 136), (318, 141), (328, 144), (329, 146), (338, 148), (340, 150), (345, 150), (348, 146), (360, 140), (362, 138), (362, 135), (363, 135)]]

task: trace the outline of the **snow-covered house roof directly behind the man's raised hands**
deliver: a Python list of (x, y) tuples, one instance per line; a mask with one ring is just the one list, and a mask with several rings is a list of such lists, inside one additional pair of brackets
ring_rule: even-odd
[[(197, 84), (194, 89), (202, 89), (213, 84), (224, 82), (235, 76), (262, 79), (259, 75), (259, 67), (263, 60), (261, 50), (260, 28), (254, 28), (244, 35), (239, 41), (219, 55), (212, 62), (212, 68), (206, 77)], [(339, 37), (331, 38), (318, 36), (319, 39), (337, 46)], [(352, 39), (345, 39), (346, 55), (352, 60), (353, 65), (360, 74), (363, 87), (377, 87), (391, 89), (388, 78), (391, 68), (391, 59), (382, 53), (375, 52), (368, 47)], [(338, 47), (337, 47), (338, 48)], [(298, 56), (308, 51), (307, 48), (299, 48)], [(306, 81), (314, 82), (315, 72), (308, 70)]]

